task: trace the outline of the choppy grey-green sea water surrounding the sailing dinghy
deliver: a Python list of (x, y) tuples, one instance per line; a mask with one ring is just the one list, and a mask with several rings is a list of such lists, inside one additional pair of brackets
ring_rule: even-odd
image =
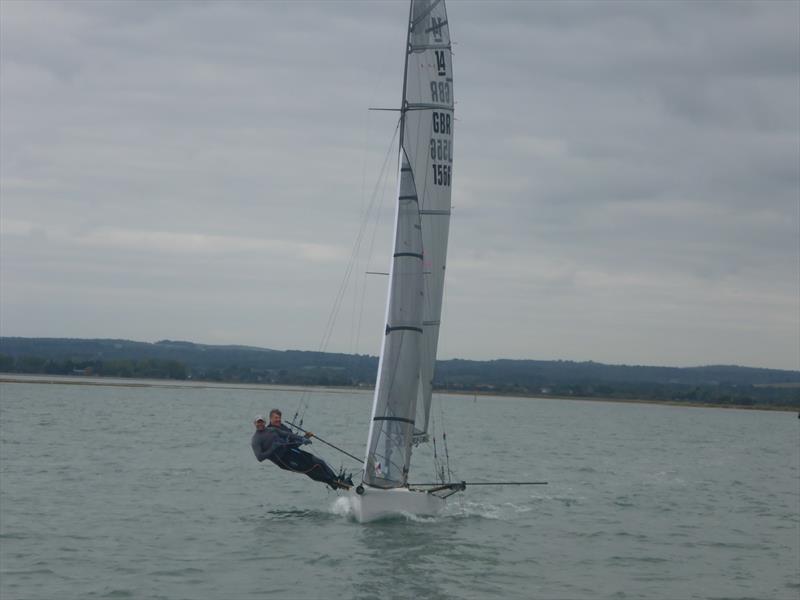
[[(253, 457), (255, 414), (302, 397), (0, 384), (0, 598), (800, 597), (795, 413), (440, 395), (458, 479), (549, 485), (361, 525)], [(305, 397), (305, 426), (360, 456), (370, 393)], [(412, 479), (432, 473), (415, 454)]]

